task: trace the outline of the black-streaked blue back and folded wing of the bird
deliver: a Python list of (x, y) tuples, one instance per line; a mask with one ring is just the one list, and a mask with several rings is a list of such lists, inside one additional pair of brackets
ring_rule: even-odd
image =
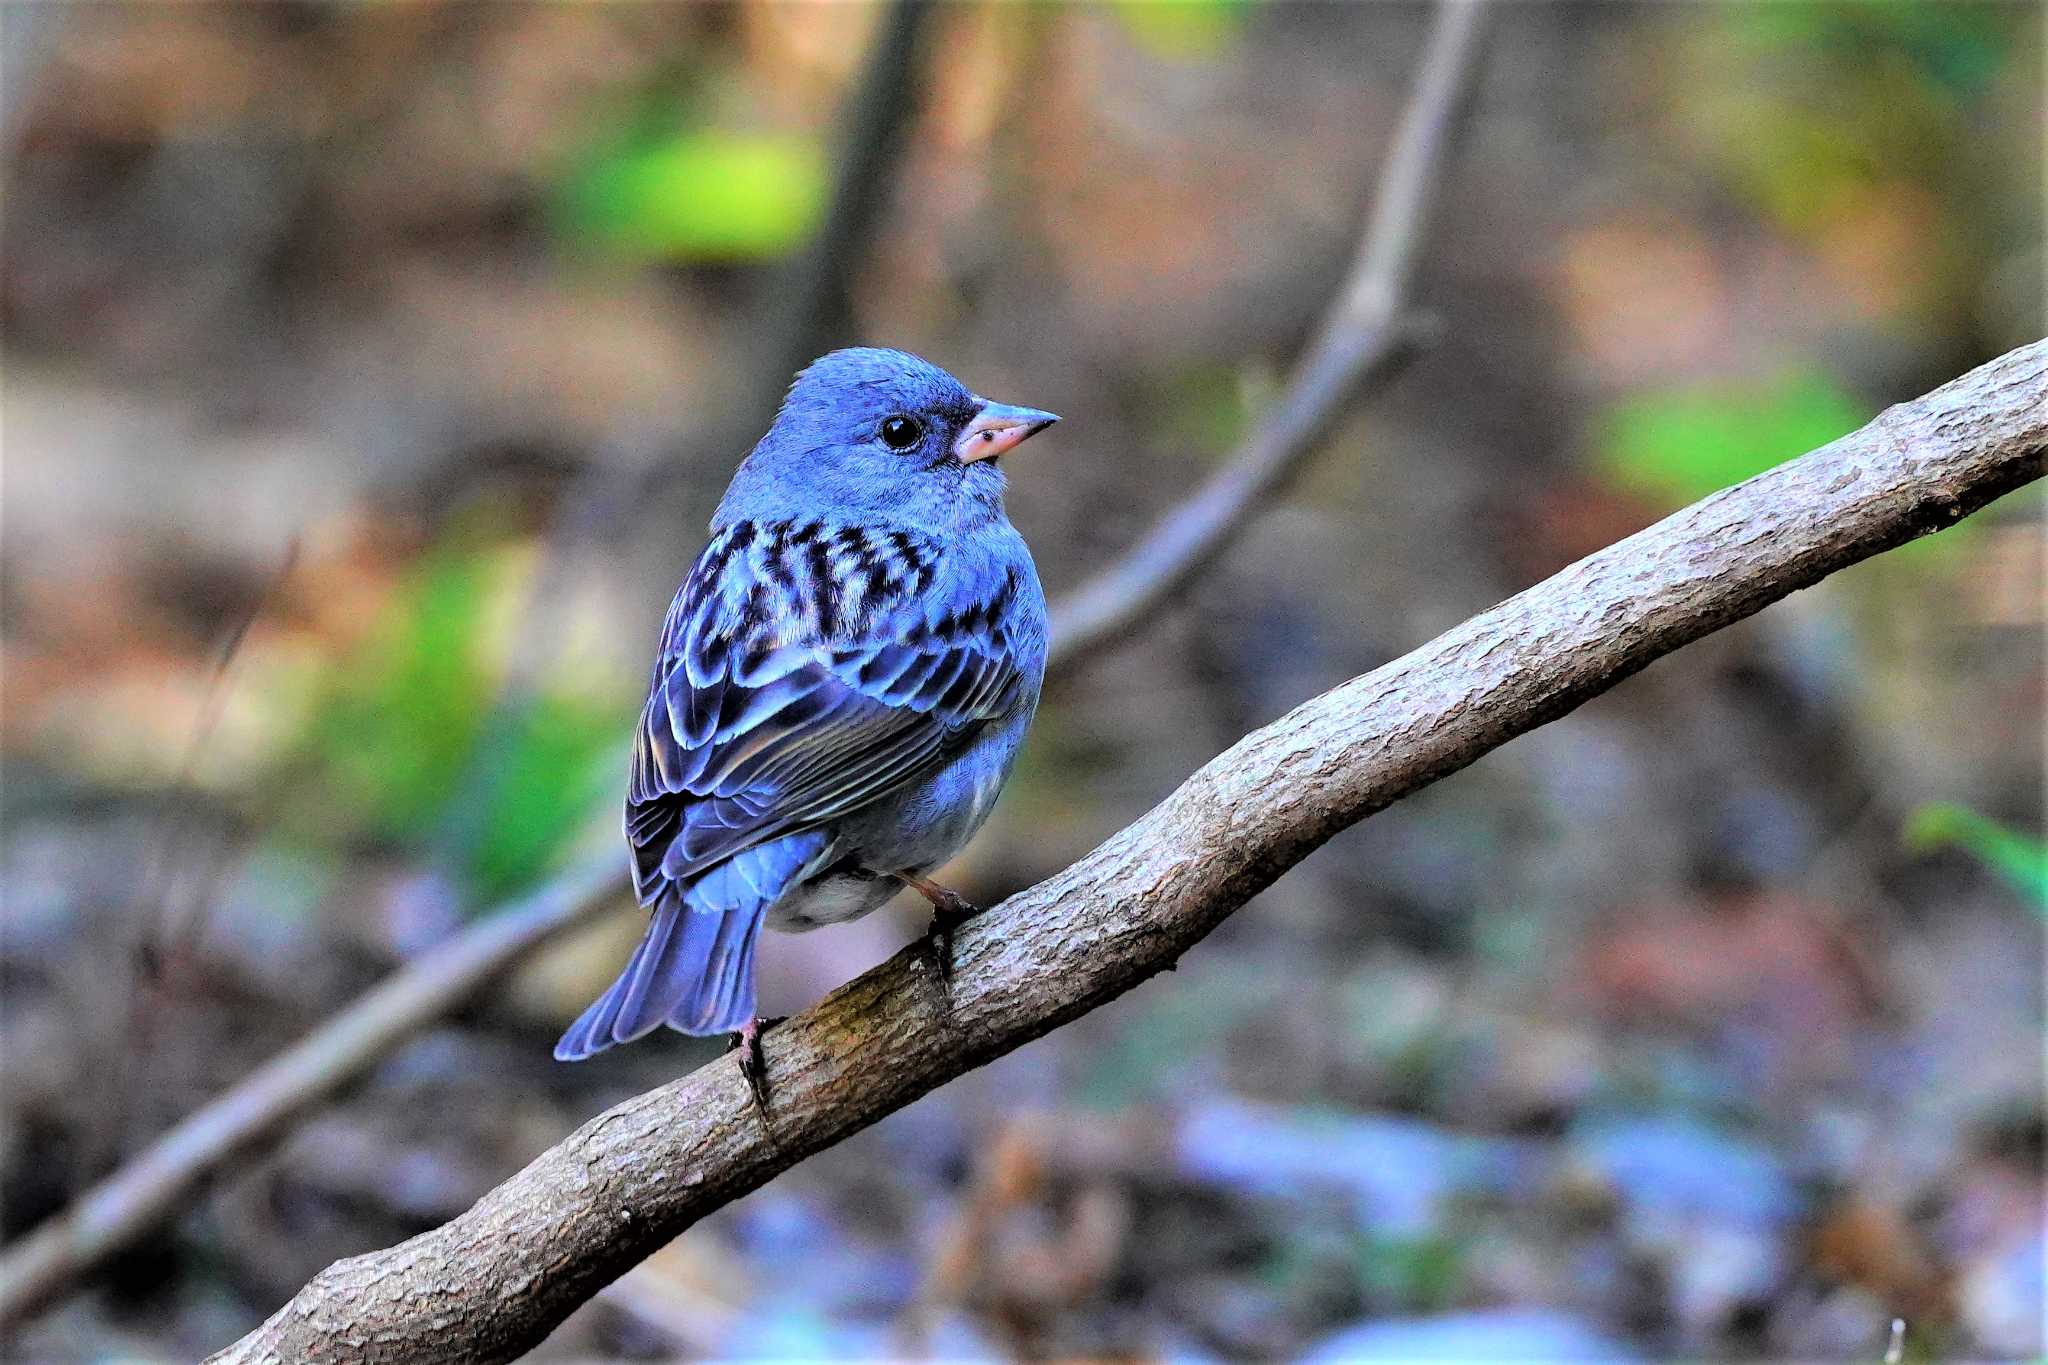
[(1018, 573), (942, 577), (901, 530), (737, 522), (705, 546), (633, 743), (643, 898), (897, 790), (1016, 706)]

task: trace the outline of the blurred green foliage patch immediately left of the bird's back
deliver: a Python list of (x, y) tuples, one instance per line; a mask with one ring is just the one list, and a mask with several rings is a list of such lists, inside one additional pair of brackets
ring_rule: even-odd
[(551, 677), (500, 700), (489, 622), (528, 557), (455, 536), (393, 593), (356, 657), (311, 684), (301, 833), (432, 851), (469, 902), (547, 872), (618, 776), (629, 714)]

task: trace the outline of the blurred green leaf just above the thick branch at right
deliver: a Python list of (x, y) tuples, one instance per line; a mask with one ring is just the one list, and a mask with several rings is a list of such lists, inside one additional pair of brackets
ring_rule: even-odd
[(1761, 475), (1853, 432), (1870, 407), (1819, 370), (1763, 385), (1667, 389), (1624, 399), (1599, 422), (1595, 454), (1622, 487), (1669, 508)]

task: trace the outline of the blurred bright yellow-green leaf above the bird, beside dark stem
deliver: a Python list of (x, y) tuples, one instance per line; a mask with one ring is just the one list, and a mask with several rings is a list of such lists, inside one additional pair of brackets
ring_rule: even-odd
[(815, 139), (690, 129), (596, 153), (557, 188), (555, 221), (631, 260), (750, 262), (799, 248), (823, 207)]

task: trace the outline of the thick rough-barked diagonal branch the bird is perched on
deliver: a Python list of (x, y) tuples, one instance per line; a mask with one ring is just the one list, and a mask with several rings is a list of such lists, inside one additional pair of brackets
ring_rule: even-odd
[(1174, 962), (1339, 829), (2042, 475), (2048, 342), (1583, 559), (1241, 739), (1108, 843), (598, 1115), (453, 1222), (338, 1261), (215, 1361), (502, 1361), (705, 1214)]

